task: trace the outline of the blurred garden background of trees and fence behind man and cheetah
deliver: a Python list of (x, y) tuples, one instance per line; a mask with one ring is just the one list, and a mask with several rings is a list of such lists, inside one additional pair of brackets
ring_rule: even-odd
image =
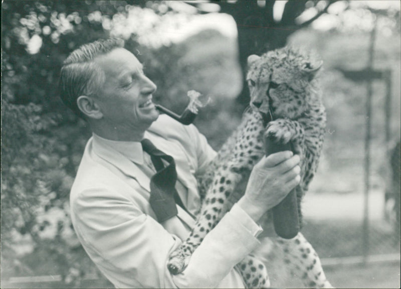
[[(112, 287), (80, 246), (69, 190), (91, 133), (57, 92), (62, 61), (110, 36), (144, 63), (154, 101), (219, 150), (249, 101), (248, 55), (314, 51), (327, 130), (303, 233), (336, 287), (400, 286), (400, 2), (2, 1), (1, 286)], [(300, 287), (270, 256), (273, 287)]]

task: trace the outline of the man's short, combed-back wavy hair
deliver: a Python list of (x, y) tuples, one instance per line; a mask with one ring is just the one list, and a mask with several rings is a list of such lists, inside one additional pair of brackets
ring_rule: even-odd
[(97, 40), (74, 50), (63, 62), (59, 81), (60, 98), (78, 116), (84, 117), (77, 105), (78, 97), (98, 93), (105, 81), (105, 74), (94, 59), (123, 47), (124, 40), (119, 38)]

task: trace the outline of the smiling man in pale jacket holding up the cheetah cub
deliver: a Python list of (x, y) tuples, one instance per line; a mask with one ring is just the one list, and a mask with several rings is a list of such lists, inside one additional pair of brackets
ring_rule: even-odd
[[(259, 245), (259, 218), (299, 183), (299, 158), (282, 152), (260, 161), (245, 196), (193, 252), (187, 268), (171, 275), (168, 256), (188, 236), (200, 206), (195, 174), (216, 152), (193, 125), (159, 116), (152, 103), (155, 84), (123, 45), (117, 39), (84, 45), (61, 71), (63, 101), (93, 131), (71, 189), (77, 236), (116, 287), (244, 287), (234, 266)], [(149, 204), (156, 170), (142, 149), (144, 138), (175, 160), (184, 208), (176, 206), (178, 214), (161, 223)]]

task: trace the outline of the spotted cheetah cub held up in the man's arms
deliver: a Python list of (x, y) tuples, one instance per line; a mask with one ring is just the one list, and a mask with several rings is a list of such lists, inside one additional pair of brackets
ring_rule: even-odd
[[(288, 47), (248, 58), (250, 108), (208, 171), (198, 179), (202, 208), (190, 236), (170, 255), (167, 267), (172, 274), (185, 269), (191, 253), (206, 234), (242, 197), (245, 190), (241, 184), (248, 181), (253, 166), (265, 155), (267, 137), (291, 142), (294, 153), (301, 158), (301, 182), (296, 188), (300, 208), (317, 169), (325, 132), (326, 115), (316, 77), (321, 65), (322, 62)], [(299, 217), (301, 222), (300, 209)], [(271, 210), (263, 222), (266, 228), (272, 228)], [(301, 233), (293, 239), (277, 235), (269, 239), (282, 249), (286, 266), (307, 287), (332, 288), (317, 253)], [(248, 255), (237, 268), (247, 287), (270, 286), (264, 263), (254, 255)]]

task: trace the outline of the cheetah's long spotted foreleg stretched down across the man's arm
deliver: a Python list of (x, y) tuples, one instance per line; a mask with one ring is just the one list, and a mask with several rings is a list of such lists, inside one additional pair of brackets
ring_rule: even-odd
[[(212, 174), (213, 181), (206, 192), (195, 227), (190, 236), (169, 257), (167, 267), (171, 274), (178, 274), (186, 268), (192, 252), (224, 215), (227, 209), (225, 205), (229, 203), (227, 200), (244, 174), (251, 171), (264, 155), (262, 145), (264, 128), (261, 121), (253, 117), (247, 118), (242, 122), (238, 132), (235, 135), (235, 146), (230, 149), (231, 159), (225, 161), (225, 164), (219, 164), (217, 171)], [(209, 180), (207, 181), (205, 185), (209, 184)]]

